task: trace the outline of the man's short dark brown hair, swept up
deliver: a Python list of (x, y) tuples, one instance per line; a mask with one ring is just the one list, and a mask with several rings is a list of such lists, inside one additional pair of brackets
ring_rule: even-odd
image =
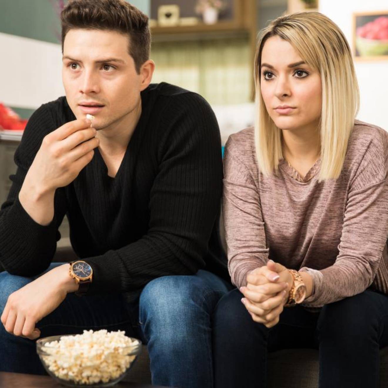
[(148, 17), (125, 0), (69, 0), (61, 12), (62, 53), (70, 29), (99, 29), (128, 35), (128, 52), (139, 74), (149, 59), (151, 33)]

